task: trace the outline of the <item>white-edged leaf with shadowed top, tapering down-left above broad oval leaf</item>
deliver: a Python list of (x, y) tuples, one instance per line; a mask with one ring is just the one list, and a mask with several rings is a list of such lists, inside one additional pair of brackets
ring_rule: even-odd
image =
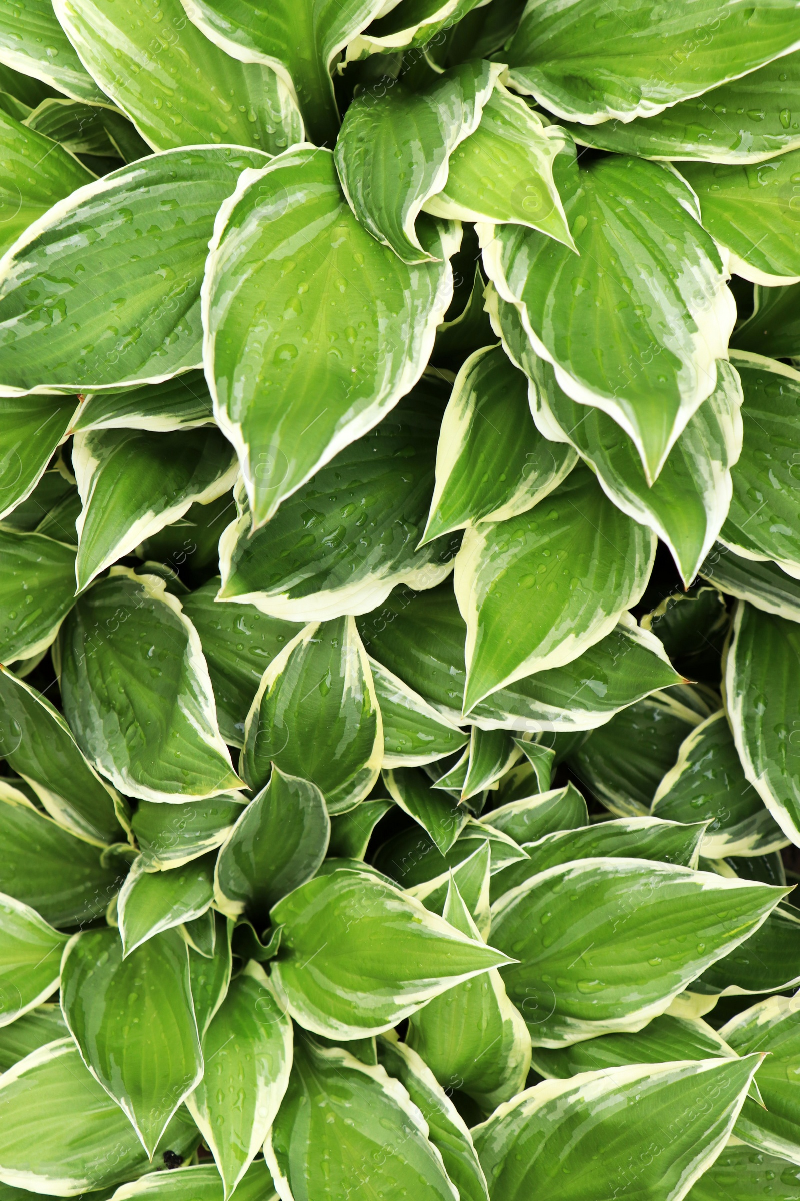
[(76, 436), (78, 588), (139, 543), (230, 490), (239, 464), (216, 429), (149, 434), (98, 430)]

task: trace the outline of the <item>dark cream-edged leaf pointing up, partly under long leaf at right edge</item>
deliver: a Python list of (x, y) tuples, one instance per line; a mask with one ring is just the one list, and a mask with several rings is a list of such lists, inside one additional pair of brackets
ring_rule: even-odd
[(652, 813), (670, 821), (710, 821), (706, 859), (758, 855), (786, 847), (786, 835), (745, 777), (724, 712), (712, 713), (681, 743)]

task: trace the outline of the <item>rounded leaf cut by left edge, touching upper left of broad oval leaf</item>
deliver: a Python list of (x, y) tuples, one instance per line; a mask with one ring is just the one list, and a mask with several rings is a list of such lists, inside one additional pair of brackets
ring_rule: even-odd
[(30, 659), (47, 650), (74, 604), (72, 546), (41, 533), (0, 530), (0, 659)]

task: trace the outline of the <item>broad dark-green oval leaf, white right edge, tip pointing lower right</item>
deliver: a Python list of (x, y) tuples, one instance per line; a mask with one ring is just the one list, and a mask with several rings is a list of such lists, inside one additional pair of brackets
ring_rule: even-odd
[(59, 646), (76, 739), (122, 791), (180, 803), (241, 783), (217, 728), (200, 639), (163, 580), (113, 568), (78, 600)]

